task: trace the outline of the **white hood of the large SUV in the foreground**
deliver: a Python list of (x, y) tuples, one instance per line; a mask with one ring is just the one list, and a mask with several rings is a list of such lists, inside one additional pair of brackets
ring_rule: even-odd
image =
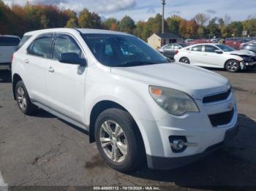
[(230, 88), (230, 82), (221, 75), (183, 63), (162, 63), (148, 66), (116, 67), (111, 72), (121, 77), (181, 90), (195, 99), (220, 93)]

